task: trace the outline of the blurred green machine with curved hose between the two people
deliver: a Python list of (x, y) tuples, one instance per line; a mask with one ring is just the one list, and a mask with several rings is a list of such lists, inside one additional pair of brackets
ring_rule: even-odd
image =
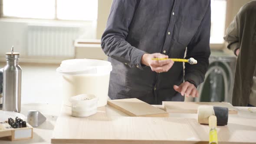
[(232, 101), (236, 56), (212, 50), (204, 82), (198, 86), (195, 101)]

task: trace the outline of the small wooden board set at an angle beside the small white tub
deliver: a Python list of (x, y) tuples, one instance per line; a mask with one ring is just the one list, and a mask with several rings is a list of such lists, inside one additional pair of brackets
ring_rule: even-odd
[(109, 100), (108, 105), (133, 117), (168, 117), (169, 114), (137, 98)]

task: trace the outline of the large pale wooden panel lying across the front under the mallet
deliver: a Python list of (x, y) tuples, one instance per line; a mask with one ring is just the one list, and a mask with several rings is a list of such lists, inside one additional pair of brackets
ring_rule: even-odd
[[(106, 108), (107, 111), (108, 108)], [(194, 114), (195, 115), (195, 114)], [(196, 115), (195, 115), (196, 116)], [(253, 118), (230, 117), (217, 127), (219, 144), (255, 144)], [(56, 121), (53, 144), (207, 144), (209, 127), (196, 118), (109, 116), (104, 109), (88, 118), (71, 117), (63, 107)]]

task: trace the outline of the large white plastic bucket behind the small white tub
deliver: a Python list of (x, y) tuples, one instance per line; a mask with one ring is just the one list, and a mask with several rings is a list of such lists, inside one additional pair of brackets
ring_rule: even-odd
[(75, 95), (92, 94), (98, 98), (98, 107), (108, 100), (108, 85), (111, 62), (97, 59), (69, 59), (56, 69), (62, 75), (63, 103), (71, 106), (69, 98)]

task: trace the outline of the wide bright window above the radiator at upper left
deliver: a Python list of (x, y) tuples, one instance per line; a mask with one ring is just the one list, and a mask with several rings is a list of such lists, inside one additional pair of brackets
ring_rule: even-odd
[(3, 0), (3, 16), (55, 20), (97, 20), (98, 0)]

